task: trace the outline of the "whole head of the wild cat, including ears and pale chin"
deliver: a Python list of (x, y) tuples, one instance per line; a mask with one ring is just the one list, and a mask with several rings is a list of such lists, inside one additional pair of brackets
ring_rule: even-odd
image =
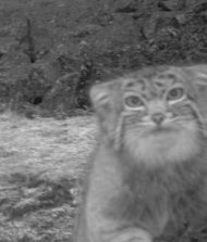
[[(205, 135), (207, 66), (158, 66), (95, 86), (101, 135), (149, 164), (187, 160)], [(204, 93), (202, 93), (204, 92)]]

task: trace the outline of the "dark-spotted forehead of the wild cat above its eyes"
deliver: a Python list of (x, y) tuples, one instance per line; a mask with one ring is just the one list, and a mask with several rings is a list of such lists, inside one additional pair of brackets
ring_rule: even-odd
[(124, 92), (138, 92), (143, 95), (161, 95), (175, 85), (184, 86), (184, 80), (179, 73), (172, 69), (150, 73), (133, 73), (123, 80)]

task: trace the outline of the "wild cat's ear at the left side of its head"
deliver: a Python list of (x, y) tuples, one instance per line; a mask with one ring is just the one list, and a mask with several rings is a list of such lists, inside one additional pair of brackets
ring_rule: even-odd
[(90, 101), (99, 117), (105, 117), (112, 109), (112, 82), (97, 84), (90, 89)]

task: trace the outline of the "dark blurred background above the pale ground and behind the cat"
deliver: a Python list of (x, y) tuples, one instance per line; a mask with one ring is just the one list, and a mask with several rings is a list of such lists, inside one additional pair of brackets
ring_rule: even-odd
[(0, 111), (65, 117), (95, 81), (207, 59), (205, 0), (1, 0)]

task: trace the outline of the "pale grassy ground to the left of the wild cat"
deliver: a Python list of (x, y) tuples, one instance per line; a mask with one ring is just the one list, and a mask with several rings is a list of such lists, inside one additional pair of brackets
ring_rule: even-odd
[(70, 241), (94, 123), (0, 116), (0, 241)]

